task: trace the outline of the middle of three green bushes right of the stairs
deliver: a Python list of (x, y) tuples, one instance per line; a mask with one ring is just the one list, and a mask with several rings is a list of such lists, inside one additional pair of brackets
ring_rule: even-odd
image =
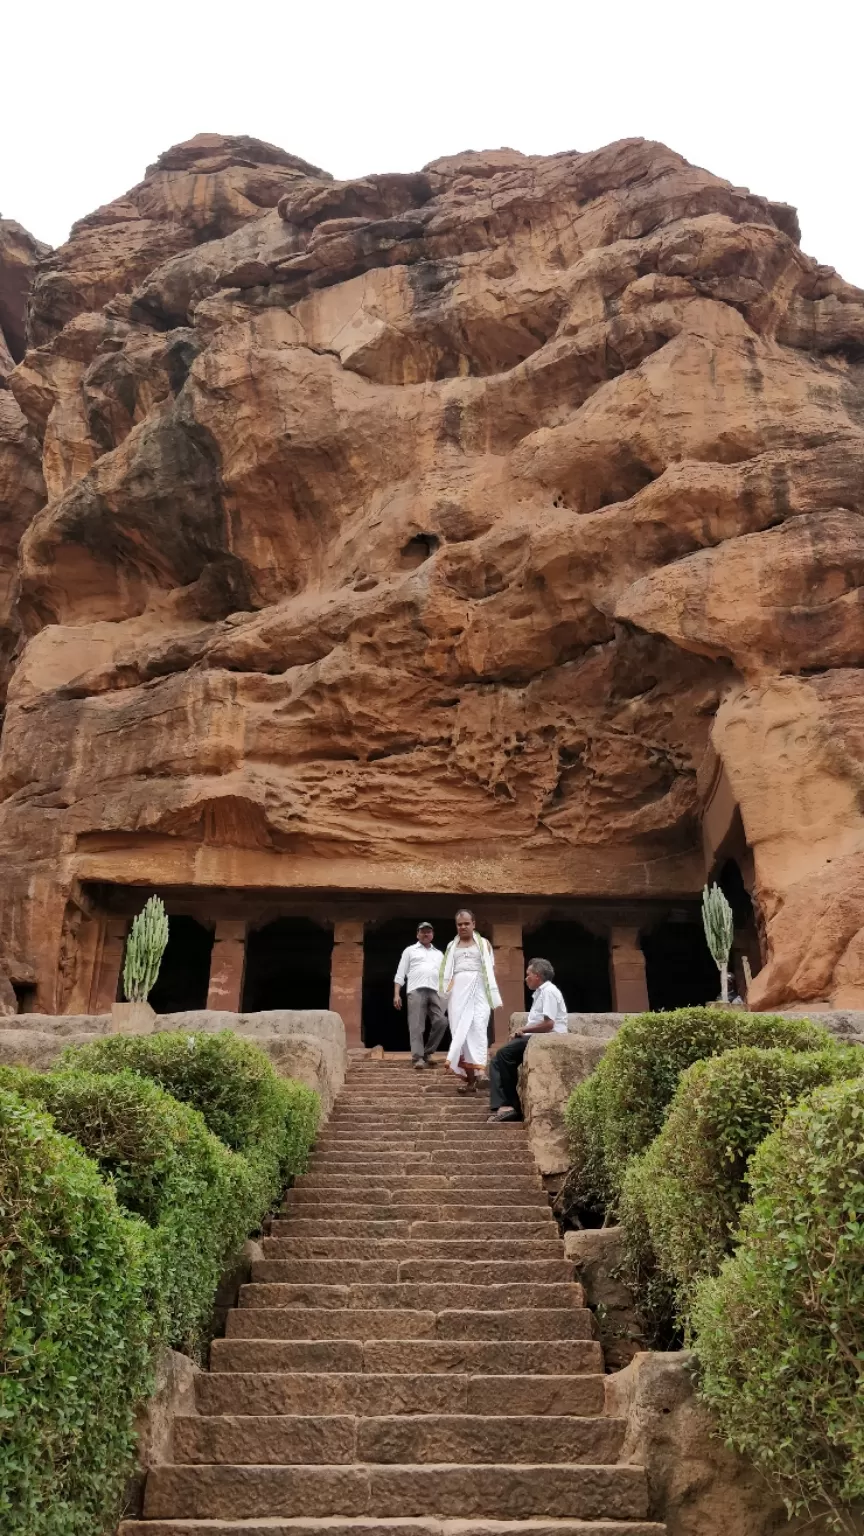
[(792, 1104), (864, 1072), (864, 1051), (759, 1051), (743, 1046), (696, 1061), (678, 1083), (660, 1135), (624, 1175), (621, 1220), (644, 1233), (680, 1309), (696, 1279), (732, 1249), (747, 1198), (747, 1166)]

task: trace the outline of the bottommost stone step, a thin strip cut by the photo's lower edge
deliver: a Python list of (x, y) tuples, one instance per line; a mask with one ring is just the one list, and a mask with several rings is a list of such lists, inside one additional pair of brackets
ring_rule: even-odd
[(117, 1536), (666, 1536), (653, 1521), (377, 1519), (155, 1519), (121, 1521)]

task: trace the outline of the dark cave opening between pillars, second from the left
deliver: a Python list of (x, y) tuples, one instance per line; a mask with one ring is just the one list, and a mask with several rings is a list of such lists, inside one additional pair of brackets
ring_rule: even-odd
[(309, 917), (277, 917), (246, 938), (243, 1012), (329, 1008), (332, 929)]

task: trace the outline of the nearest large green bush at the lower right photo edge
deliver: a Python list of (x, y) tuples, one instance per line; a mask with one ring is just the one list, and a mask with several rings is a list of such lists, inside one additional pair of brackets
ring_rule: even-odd
[(795, 1107), (750, 1163), (739, 1247), (695, 1292), (703, 1395), (792, 1508), (864, 1498), (864, 1081)]

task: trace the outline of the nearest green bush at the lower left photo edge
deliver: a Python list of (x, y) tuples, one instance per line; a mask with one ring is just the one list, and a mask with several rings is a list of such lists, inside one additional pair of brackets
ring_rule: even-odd
[(149, 1390), (146, 1230), (46, 1115), (0, 1089), (0, 1528), (114, 1528)]

